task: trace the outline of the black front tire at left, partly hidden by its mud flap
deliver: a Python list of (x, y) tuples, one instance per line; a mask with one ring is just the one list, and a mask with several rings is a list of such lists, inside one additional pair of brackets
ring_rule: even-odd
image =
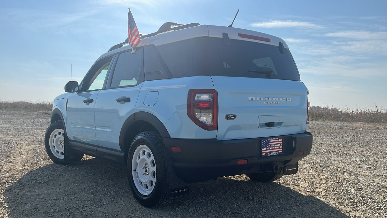
[[(45, 135), (45, 147), (46, 147), (46, 152), (47, 152), (47, 154), (48, 154), (48, 157), (50, 157), (50, 159), (51, 159), (54, 163), (66, 165), (66, 164), (68, 164), (69, 162), (68, 162), (68, 161), (65, 161), (64, 158), (58, 158), (58, 157), (57, 157), (58, 155), (54, 155), (54, 154), (53, 154), (53, 151), (52, 151), (51, 148), (50, 148), (50, 136), (51, 136), (51, 133), (53, 133), (53, 131), (58, 130), (58, 129), (63, 130), (63, 133), (61, 133), (61, 134), (63, 134), (63, 138), (62, 138), (62, 139), (64, 140), (64, 142), (63, 142), (63, 153), (65, 152), (65, 151), (64, 151), (64, 143), (68, 143), (68, 142), (69, 142), (69, 139), (68, 139), (68, 137), (64, 134), (64, 126), (63, 126), (62, 121), (60, 121), (60, 120), (54, 121), (53, 123), (51, 123), (51, 125), (48, 126), (48, 128), (47, 128), (47, 130), (46, 130), (46, 135)], [(54, 139), (54, 140), (55, 140), (55, 139)], [(58, 154), (59, 154), (59, 153), (58, 153)], [(64, 156), (64, 155), (63, 155), (63, 156)], [(71, 162), (80, 160), (80, 159), (82, 159), (83, 156), (84, 156), (84, 154), (80, 154), (80, 153), (76, 152), (76, 155), (75, 155), (76, 158), (73, 157)]]

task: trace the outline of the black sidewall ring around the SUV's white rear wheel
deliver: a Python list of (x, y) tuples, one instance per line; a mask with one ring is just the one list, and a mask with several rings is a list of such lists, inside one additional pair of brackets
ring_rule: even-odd
[[(128, 170), (128, 179), (130, 183), (130, 189), (132, 190), (133, 196), (137, 201), (140, 202), (140, 204), (146, 206), (146, 207), (157, 207), (161, 201), (166, 196), (166, 190), (168, 188), (167, 186), (167, 177), (166, 177), (166, 165), (165, 161), (161, 160), (160, 153), (164, 152), (164, 149), (159, 149), (158, 146), (154, 145), (154, 142), (152, 142), (151, 138), (149, 138), (151, 135), (153, 137), (157, 137), (153, 133), (151, 134), (144, 134), (144, 133), (151, 133), (151, 132), (143, 132), (137, 135), (130, 145), (129, 152), (128, 152), (128, 164), (127, 164), (127, 170)], [(140, 145), (146, 145), (152, 152), (155, 162), (156, 162), (156, 183), (154, 185), (154, 188), (152, 192), (144, 196), (141, 194), (137, 187), (134, 184), (133, 180), (133, 174), (132, 174), (132, 160), (134, 151), (139, 147)], [(161, 151), (156, 151), (161, 150)], [(165, 157), (165, 156), (164, 156)], [(164, 162), (164, 163), (163, 163)]]

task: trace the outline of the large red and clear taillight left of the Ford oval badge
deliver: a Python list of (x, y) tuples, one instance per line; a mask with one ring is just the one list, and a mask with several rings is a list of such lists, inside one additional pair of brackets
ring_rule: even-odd
[(217, 92), (213, 89), (190, 89), (187, 97), (187, 114), (194, 123), (205, 130), (217, 130)]

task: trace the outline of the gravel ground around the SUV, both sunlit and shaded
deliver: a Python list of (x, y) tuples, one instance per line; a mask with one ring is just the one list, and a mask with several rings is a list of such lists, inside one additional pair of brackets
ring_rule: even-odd
[(123, 166), (90, 156), (52, 163), (49, 124), (48, 112), (0, 110), (0, 218), (387, 217), (387, 125), (314, 121), (312, 153), (297, 174), (194, 183), (189, 197), (148, 209), (132, 196)]

